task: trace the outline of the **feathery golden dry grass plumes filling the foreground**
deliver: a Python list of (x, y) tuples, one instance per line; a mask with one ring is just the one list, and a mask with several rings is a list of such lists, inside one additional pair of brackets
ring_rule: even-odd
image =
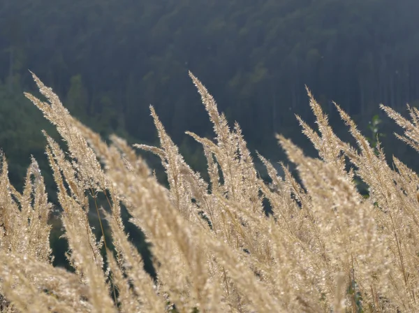
[[(124, 140), (100, 136), (71, 117), (52, 89), (34, 75), (41, 101), (26, 96), (57, 126), (67, 152), (45, 133), (47, 157), (63, 212), (68, 260), (75, 272), (54, 268), (47, 224), (50, 204), (35, 160), (23, 194), (0, 176), (0, 295), (3, 312), (418, 312), (419, 178), (394, 158), (386, 163), (337, 106), (358, 147), (342, 142), (309, 94), (318, 131), (300, 118), (319, 153), (304, 156), (278, 136), (297, 166), (302, 186), (284, 166), (260, 179), (236, 124), (230, 129), (207, 89), (191, 74), (214, 124), (203, 145), (210, 182), (184, 161), (151, 108), (160, 147), (135, 145), (161, 158), (169, 188)], [(419, 151), (419, 112), (411, 122), (385, 106)], [(346, 170), (349, 161), (356, 170)], [(354, 177), (369, 186), (362, 198)], [(89, 198), (108, 198), (112, 231), (98, 240), (89, 225)], [(272, 207), (267, 216), (266, 198)], [(145, 272), (127, 239), (120, 213), (152, 244), (157, 279)], [(94, 208), (99, 212), (100, 208)], [(104, 261), (105, 251), (108, 261)]]

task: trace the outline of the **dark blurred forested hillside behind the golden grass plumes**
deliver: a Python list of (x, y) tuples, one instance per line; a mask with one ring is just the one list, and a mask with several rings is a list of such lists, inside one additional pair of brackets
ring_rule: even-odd
[[(417, 0), (0, 1), (0, 147), (10, 180), (22, 187), (33, 154), (54, 201), (41, 129), (54, 131), (22, 95), (36, 93), (28, 69), (103, 136), (156, 143), (154, 105), (186, 161), (203, 170), (202, 150), (184, 134), (212, 137), (191, 70), (251, 149), (280, 161), (274, 133), (312, 151), (294, 116), (313, 122), (304, 85), (343, 138), (332, 101), (367, 136), (379, 103), (419, 105), (418, 12)], [(418, 169), (392, 136), (397, 128), (385, 118), (380, 126), (388, 157)]]

